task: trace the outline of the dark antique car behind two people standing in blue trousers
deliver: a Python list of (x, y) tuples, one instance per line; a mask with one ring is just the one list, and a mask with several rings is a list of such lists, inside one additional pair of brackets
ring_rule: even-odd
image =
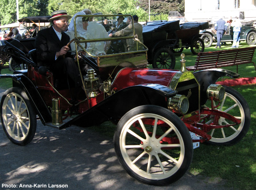
[[(211, 47), (213, 42), (217, 42), (217, 34), (212, 26), (210, 29), (205, 29), (200, 32), (204, 41), (205, 47)], [(228, 26), (225, 34), (221, 38), (220, 42), (232, 42), (233, 41), (233, 27)], [(246, 41), (248, 45), (256, 44), (256, 29), (252, 27), (252, 22), (245, 24), (241, 27), (240, 42)]]

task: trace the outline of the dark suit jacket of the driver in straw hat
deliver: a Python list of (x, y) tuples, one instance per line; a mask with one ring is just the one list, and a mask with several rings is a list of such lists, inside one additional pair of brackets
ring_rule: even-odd
[[(67, 34), (61, 32), (61, 35), (60, 41), (52, 26), (40, 30), (37, 33), (35, 45), (38, 65), (49, 68), (55, 62), (59, 62), (63, 59), (63, 57), (60, 56), (55, 60), (56, 52), (60, 51), (60, 49), (69, 42), (69, 36)], [(66, 57), (70, 57), (70, 53), (67, 53)]]

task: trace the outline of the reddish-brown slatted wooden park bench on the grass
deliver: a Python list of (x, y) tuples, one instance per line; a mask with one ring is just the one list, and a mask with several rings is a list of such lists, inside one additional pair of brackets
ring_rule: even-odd
[(255, 64), (252, 61), (255, 49), (256, 47), (248, 47), (200, 52), (197, 54), (195, 65), (186, 68), (188, 71), (196, 71), (236, 65), (236, 72), (238, 72), (238, 65), (253, 63), (256, 71)]

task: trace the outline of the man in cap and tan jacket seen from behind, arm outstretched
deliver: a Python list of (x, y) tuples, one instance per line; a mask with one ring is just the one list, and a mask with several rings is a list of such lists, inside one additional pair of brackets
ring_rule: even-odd
[[(133, 21), (134, 21), (134, 31), (135, 34), (138, 35), (138, 39), (140, 40), (140, 42), (143, 43), (143, 37), (142, 37), (142, 25), (140, 23), (138, 23), (138, 16), (137, 15), (133, 15), (132, 16)], [(133, 36), (133, 26), (132, 23), (129, 24), (126, 28), (117, 31), (113, 34), (108, 34), (109, 36)], [(127, 51), (136, 51), (137, 50), (137, 44), (136, 41), (134, 41), (132, 38), (126, 39), (126, 44), (127, 44)], [(141, 50), (141, 46), (139, 45), (139, 50)]]

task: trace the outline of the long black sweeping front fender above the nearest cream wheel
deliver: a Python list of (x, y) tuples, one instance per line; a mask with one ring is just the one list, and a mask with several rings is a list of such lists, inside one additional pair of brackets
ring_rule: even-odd
[(176, 90), (158, 84), (126, 87), (60, 126), (60, 129), (70, 125), (90, 127), (107, 120), (117, 124), (125, 113), (141, 105), (158, 105), (167, 109), (168, 99), (176, 93)]

